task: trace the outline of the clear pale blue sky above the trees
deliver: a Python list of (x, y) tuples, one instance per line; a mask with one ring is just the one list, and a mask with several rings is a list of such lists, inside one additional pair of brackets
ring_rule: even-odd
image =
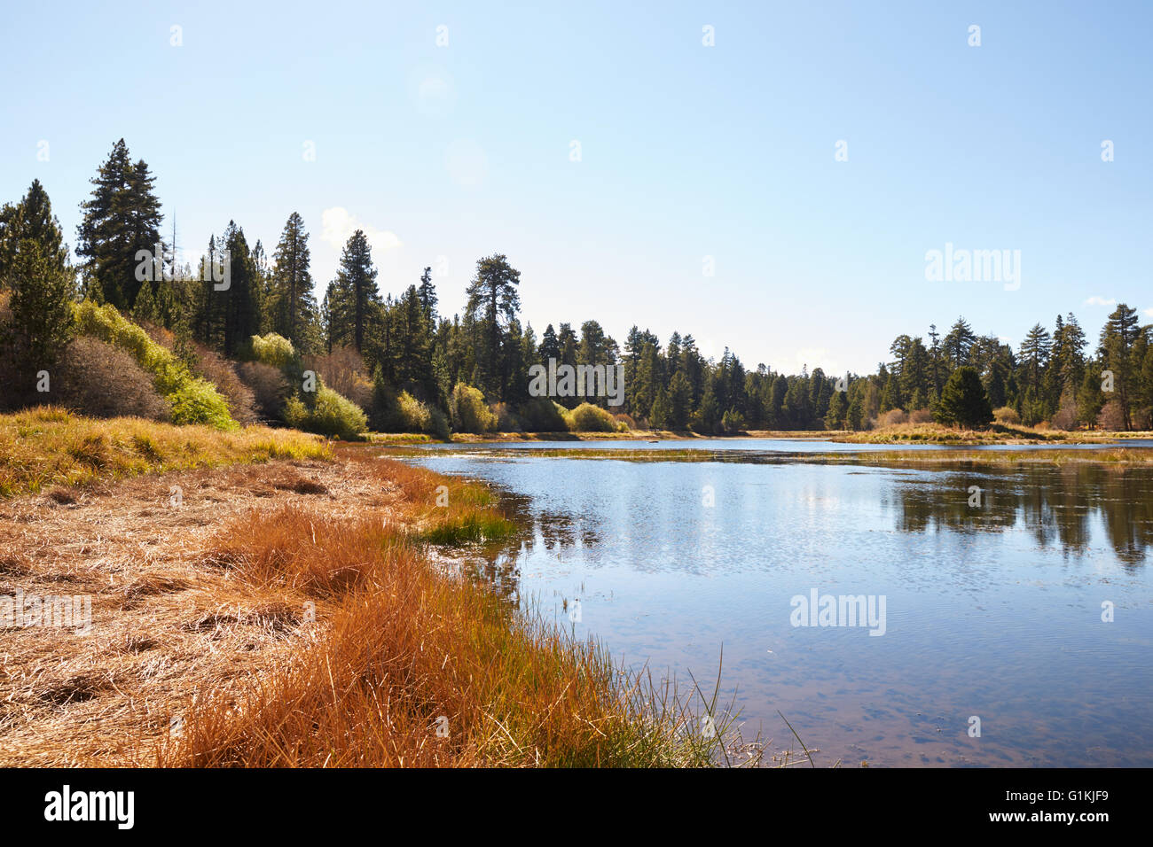
[[(39, 177), (74, 243), (123, 137), (181, 248), (235, 219), (271, 252), (299, 211), (323, 286), (359, 225), (386, 292), (445, 257), (450, 313), (504, 252), (537, 334), (749, 368), (864, 372), (958, 313), (1015, 346), (1068, 311), (1095, 340), (1090, 298), (1153, 320), (1153, 5), (543, 6), (9, 5), (0, 199)], [(1020, 250), (1019, 289), (926, 281), (947, 242)]]

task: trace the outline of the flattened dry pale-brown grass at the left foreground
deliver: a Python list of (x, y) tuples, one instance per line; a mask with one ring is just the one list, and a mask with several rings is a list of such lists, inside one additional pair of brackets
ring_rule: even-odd
[(193, 699), (307, 650), (319, 628), (303, 606), (286, 613), (282, 590), (205, 550), (234, 515), (318, 499), (334, 514), (386, 501), (337, 463), (282, 460), (0, 500), (0, 597), (86, 595), (92, 608), (88, 635), (0, 628), (0, 766), (151, 763)]

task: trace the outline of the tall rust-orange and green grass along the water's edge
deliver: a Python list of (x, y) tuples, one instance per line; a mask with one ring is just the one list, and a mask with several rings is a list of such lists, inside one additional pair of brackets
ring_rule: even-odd
[(390, 460), (363, 467), (394, 486), (393, 509), (339, 520), (286, 506), (240, 519), (210, 545), (243, 581), (314, 603), (325, 627), (243, 694), (196, 702), (158, 764), (714, 763), (721, 718), (715, 734), (698, 732), (669, 683), (624, 673), (595, 642), (425, 555), (427, 539), (504, 531), (491, 492)]

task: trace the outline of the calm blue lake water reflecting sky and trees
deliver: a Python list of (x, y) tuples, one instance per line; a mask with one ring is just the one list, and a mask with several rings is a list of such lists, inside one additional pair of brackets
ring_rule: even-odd
[[(734, 696), (746, 738), (771, 749), (796, 748), (779, 710), (819, 766), (1153, 765), (1153, 468), (805, 461), (884, 449), (827, 441), (692, 447), (706, 452), (452, 445), (414, 461), (495, 484), (520, 512), (523, 537), (482, 562), (514, 602), (683, 688), (692, 672), (711, 693), (723, 648), (721, 699)], [(623, 448), (645, 461), (591, 457)], [(872, 597), (877, 618), (883, 597), (883, 635), (867, 621), (794, 626), (794, 598), (813, 591)], [(852, 622), (834, 611), (827, 622)]]

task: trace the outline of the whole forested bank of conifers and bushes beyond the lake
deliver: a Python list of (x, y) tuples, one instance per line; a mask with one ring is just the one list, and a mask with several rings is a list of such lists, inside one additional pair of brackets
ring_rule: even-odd
[[(442, 315), (431, 269), (409, 285), (382, 282), (359, 229), (318, 302), (296, 212), (271, 255), (229, 220), (195, 267), (181, 264), (161, 233), (155, 177), (122, 139), (91, 182), (75, 265), (39, 181), (0, 210), (3, 409), (59, 404), (221, 429), (265, 421), (340, 437), (861, 430), (981, 425), (994, 414), (1065, 430), (1151, 425), (1153, 327), (1124, 304), (1095, 345), (1071, 312), (1052, 330), (1034, 325), (1016, 350), (958, 318), (943, 334), (898, 336), (867, 376), (785, 375), (728, 349), (706, 358), (687, 333), (663, 342), (634, 325), (618, 345), (589, 319), (537, 334), (521, 322), (520, 273), (503, 254), (477, 260), (464, 312)], [(529, 369), (550, 360), (623, 365), (624, 403), (533, 396)]]

